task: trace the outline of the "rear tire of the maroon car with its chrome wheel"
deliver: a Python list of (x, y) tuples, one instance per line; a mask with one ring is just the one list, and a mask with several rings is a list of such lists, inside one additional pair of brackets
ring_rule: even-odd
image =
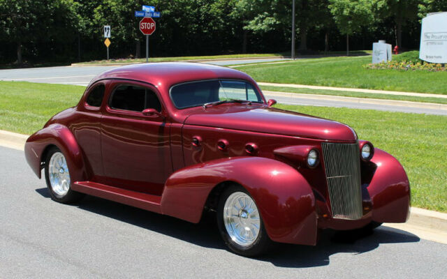
[(83, 197), (71, 190), (71, 176), (64, 153), (56, 146), (48, 151), (45, 159), (45, 181), (51, 198), (56, 202), (69, 204)]

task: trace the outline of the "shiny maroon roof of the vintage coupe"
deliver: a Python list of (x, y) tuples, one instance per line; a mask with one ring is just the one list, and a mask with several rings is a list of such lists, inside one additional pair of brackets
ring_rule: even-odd
[(94, 77), (90, 84), (104, 79), (124, 79), (147, 82), (154, 86), (170, 88), (173, 84), (193, 80), (237, 79), (254, 82), (249, 75), (228, 67), (205, 63), (160, 62), (140, 63), (112, 68)]

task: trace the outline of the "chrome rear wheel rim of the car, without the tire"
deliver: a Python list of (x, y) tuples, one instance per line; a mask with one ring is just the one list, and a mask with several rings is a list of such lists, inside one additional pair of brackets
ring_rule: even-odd
[(63, 197), (70, 190), (70, 173), (68, 172), (67, 161), (64, 154), (55, 152), (48, 165), (48, 174), (50, 176), (50, 186), (54, 193)]

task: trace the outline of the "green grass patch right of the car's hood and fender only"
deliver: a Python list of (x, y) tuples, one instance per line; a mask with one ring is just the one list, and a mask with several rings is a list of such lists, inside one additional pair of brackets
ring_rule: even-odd
[(351, 126), (400, 160), (411, 184), (411, 205), (447, 212), (447, 116), (353, 110), (338, 107), (276, 105)]

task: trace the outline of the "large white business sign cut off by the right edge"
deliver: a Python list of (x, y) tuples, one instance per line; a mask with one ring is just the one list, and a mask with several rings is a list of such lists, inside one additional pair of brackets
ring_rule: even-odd
[(432, 13), (422, 20), (419, 58), (447, 63), (447, 13)]

